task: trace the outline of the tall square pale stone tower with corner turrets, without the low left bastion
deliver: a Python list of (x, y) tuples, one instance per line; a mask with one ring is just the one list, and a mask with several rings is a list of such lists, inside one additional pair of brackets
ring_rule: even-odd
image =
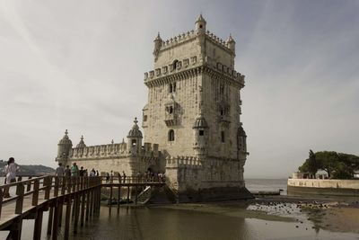
[(195, 30), (170, 40), (158, 34), (153, 56), (154, 70), (144, 74), (148, 102), (142, 127), (145, 141), (158, 143), (166, 158), (172, 188), (188, 200), (218, 196), (214, 192), (248, 193), (243, 181), (247, 136), (241, 124), (244, 76), (234, 70), (232, 36), (224, 41), (206, 31), (200, 15)]

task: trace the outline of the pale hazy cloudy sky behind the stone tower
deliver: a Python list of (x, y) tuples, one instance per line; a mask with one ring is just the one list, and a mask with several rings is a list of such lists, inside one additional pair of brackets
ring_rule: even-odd
[(359, 1), (0, 0), (0, 159), (56, 166), (120, 142), (147, 100), (153, 40), (206, 28), (236, 40), (246, 178), (285, 178), (313, 151), (359, 155)]

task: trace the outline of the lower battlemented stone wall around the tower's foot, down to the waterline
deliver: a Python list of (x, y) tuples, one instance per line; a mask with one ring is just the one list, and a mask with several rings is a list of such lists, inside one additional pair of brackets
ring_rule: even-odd
[(166, 182), (178, 202), (252, 199), (243, 180), (245, 159), (178, 156), (166, 161)]

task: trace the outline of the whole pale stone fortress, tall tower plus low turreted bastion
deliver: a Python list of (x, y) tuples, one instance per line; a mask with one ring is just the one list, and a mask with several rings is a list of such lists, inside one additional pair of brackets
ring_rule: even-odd
[(206, 30), (154, 40), (154, 69), (144, 74), (148, 102), (142, 128), (137, 120), (122, 143), (72, 146), (58, 143), (57, 161), (99, 172), (165, 173), (180, 201), (248, 198), (243, 181), (247, 155), (241, 123), (244, 76), (234, 70), (235, 41)]

